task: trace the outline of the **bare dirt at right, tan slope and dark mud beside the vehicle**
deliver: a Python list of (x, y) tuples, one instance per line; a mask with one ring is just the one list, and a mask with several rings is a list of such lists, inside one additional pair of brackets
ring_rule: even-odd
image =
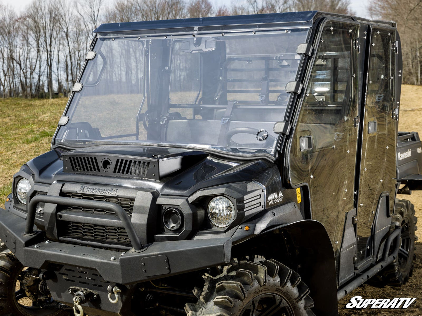
[[(402, 86), (400, 100), (399, 131), (417, 131), (422, 135), (422, 87)], [(422, 191), (413, 191), (411, 195), (399, 195), (398, 198), (408, 199), (415, 205), (416, 216), (419, 218), (421, 229), (416, 231), (419, 242), (416, 245), (417, 258), (414, 261), (414, 273), (407, 284), (402, 287), (373, 287), (368, 284), (354, 289), (349, 295), (338, 302), (338, 312), (340, 316), (354, 315), (403, 315), (422, 316)], [(345, 308), (351, 297), (362, 296), (362, 298), (388, 298), (395, 297), (416, 297), (416, 301), (407, 309), (348, 309)]]

